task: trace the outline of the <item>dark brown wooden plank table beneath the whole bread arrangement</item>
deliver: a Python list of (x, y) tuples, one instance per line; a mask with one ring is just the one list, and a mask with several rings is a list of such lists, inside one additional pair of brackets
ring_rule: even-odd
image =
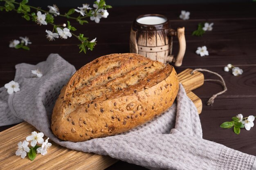
[[(181, 10), (190, 11), (190, 20), (180, 20)], [(132, 20), (137, 15), (159, 13), (168, 16), (175, 29), (185, 26), (186, 54), (181, 67), (175, 68), (178, 73), (186, 68), (206, 68), (223, 76), (228, 91), (215, 99), (213, 106), (205, 103), (211, 95), (222, 90), (220, 84), (205, 82), (194, 91), (203, 102), (200, 115), (203, 138), (215, 141), (230, 148), (256, 155), (256, 127), (250, 131), (241, 130), (236, 135), (231, 129), (222, 129), (220, 124), (229, 121), (231, 117), (242, 113), (244, 116), (256, 115), (256, 3), (230, 3), (230, 4), (186, 4), (164, 6), (134, 6), (113, 7), (109, 10), (107, 19), (99, 24), (94, 22), (77, 27), (78, 33), (93, 39), (97, 37), (94, 51), (86, 55), (78, 53), (75, 38), (49, 42), (45, 38), (45, 29), (52, 27), (38, 26), (27, 22), (14, 12), (1, 12), (0, 14), (0, 86), (13, 80), (14, 66), (25, 62), (37, 64), (46, 60), (50, 53), (59, 53), (65, 60), (73, 64), (76, 69), (97, 57), (110, 53), (129, 52), (129, 34)], [(56, 18), (57, 23), (65, 20)], [(214, 22), (213, 31), (205, 33), (202, 37), (192, 36), (199, 22)], [(11, 49), (9, 41), (19, 36), (28, 36), (33, 44), (31, 50)], [(200, 57), (195, 54), (198, 46), (207, 46), (209, 56)], [(173, 53), (177, 54), (178, 42), (174, 38)], [(243, 75), (235, 77), (231, 72), (224, 72), (223, 67), (233, 64), (243, 69)], [(207, 78), (215, 76), (205, 74)], [(1, 127), (4, 130), (11, 126)], [(140, 166), (119, 161), (110, 166), (114, 169), (145, 169)]]

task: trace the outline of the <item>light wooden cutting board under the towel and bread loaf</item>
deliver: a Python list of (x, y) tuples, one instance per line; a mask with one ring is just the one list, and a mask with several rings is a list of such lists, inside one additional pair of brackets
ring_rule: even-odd
[[(198, 114), (202, 111), (202, 101), (196, 96), (192, 90), (202, 86), (204, 83), (204, 75), (200, 72), (190, 74), (192, 70), (186, 69), (178, 74), (180, 83), (186, 89), (188, 97), (193, 101), (198, 109)], [(21, 159), (16, 156), (17, 144), (19, 141), (25, 140), (31, 132), (36, 131), (34, 126), (23, 122), (13, 126), (7, 130), (0, 132), (0, 169), (2, 170), (103, 170), (115, 162), (109, 156), (97, 155), (94, 153), (79, 152), (59, 146), (53, 141), (52, 147), (48, 150), (48, 154), (42, 156), (36, 155), (34, 161), (30, 161), (28, 157)], [(44, 137), (46, 139), (46, 137)]]

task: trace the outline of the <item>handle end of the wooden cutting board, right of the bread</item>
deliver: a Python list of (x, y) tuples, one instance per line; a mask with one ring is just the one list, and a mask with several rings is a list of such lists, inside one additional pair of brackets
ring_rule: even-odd
[(191, 91), (204, 84), (204, 75), (198, 71), (195, 71), (193, 74), (191, 74), (191, 71), (193, 70), (190, 68), (182, 71), (178, 74), (178, 79), (185, 88), (186, 95), (195, 104), (198, 110), (198, 114), (200, 114), (202, 112), (202, 100)]

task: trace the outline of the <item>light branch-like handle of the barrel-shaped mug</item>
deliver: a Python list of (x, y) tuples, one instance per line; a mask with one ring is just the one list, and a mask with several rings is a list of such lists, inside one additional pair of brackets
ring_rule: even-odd
[(175, 62), (175, 66), (181, 66), (182, 60), (186, 51), (186, 39), (185, 39), (185, 28), (177, 28), (177, 31), (174, 29), (169, 29), (169, 35), (174, 36), (176, 35), (179, 41), (179, 53), (177, 54), (177, 57), (174, 58), (172, 55), (167, 56), (168, 62)]

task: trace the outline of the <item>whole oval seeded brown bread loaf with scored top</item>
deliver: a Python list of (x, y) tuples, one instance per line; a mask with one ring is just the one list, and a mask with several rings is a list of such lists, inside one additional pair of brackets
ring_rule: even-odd
[(99, 57), (61, 90), (52, 132), (74, 142), (126, 132), (164, 113), (178, 87), (173, 66), (133, 53)]

